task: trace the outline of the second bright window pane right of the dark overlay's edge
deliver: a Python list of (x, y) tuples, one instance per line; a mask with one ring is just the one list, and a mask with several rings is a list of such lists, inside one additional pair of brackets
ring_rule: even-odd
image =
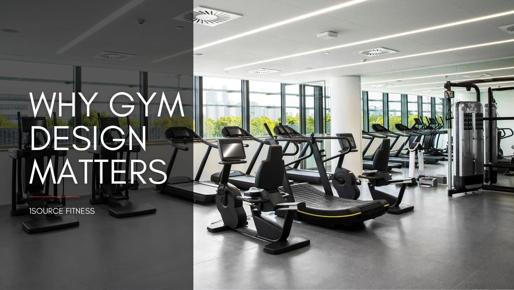
[(273, 130), (281, 117), (280, 82), (249, 81), (250, 91), (250, 133), (254, 136), (267, 136), (264, 124)]

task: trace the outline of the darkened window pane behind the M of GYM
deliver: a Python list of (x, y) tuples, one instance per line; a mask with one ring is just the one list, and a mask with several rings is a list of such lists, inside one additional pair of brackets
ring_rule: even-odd
[[(148, 73), (148, 97), (156, 93), (148, 105), (148, 140), (164, 140), (164, 132), (170, 127), (187, 127), (194, 129), (193, 122), (193, 77), (189, 75)], [(159, 116), (159, 107), (162, 93), (166, 96), (170, 109), (175, 103), (177, 93), (180, 92), (180, 101), (184, 116), (180, 115), (178, 107), (170, 116), (166, 106), (162, 106)]]

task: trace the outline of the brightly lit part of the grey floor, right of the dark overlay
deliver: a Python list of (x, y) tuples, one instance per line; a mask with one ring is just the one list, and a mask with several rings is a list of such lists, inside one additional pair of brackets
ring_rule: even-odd
[[(428, 165), (427, 173), (446, 174), (444, 163)], [(370, 199), (367, 186), (361, 187), (360, 199)], [(514, 196), (482, 191), (447, 197), (446, 189), (411, 187), (404, 201), (414, 211), (386, 214), (359, 228), (295, 222), (291, 236), (307, 237), (311, 245), (280, 255), (263, 252), (265, 242), (236, 232), (207, 232), (219, 214), (213, 204), (197, 204), (194, 287), (512, 289)]]

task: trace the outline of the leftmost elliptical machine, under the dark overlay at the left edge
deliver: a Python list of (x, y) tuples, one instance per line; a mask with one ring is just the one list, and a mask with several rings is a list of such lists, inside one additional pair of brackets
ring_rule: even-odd
[[(53, 113), (52, 117), (54, 126), (57, 126), (56, 113)], [(55, 213), (66, 206), (64, 185), (61, 198), (59, 198), (57, 183), (53, 183), (53, 195), (49, 194), (50, 174), (46, 176), (44, 183), (36, 177), (37, 175), (34, 175), (34, 180), (29, 183), (34, 163), (38, 164), (40, 170), (44, 170), (43, 168), (52, 163), (53, 172), (57, 174), (59, 157), (64, 160), (67, 151), (53, 149), (55, 142), (53, 137), (48, 140), (47, 135), (41, 129), (34, 130), (34, 135), (32, 135), (33, 126), (47, 129), (45, 117), (22, 117), (18, 112), (17, 119), (18, 148), (9, 149), (9, 157), (12, 158), (11, 216), (30, 214), (33, 219), (24, 221), (22, 224), (22, 229), (29, 234), (77, 227), (79, 220), (74, 215)], [(27, 139), (22, 142), (25, 133), (28, 133)], [(42, 135), (42, 139), (38, 137), (38, 134)], [(32, 141), (34, 141), (34, 147), (44, 147), (44, 149), (33, 150)], [(47, 143), (48, 145), (46, 145)], [(30, 209), (35, 209), (36, 212), (30, 213)]]

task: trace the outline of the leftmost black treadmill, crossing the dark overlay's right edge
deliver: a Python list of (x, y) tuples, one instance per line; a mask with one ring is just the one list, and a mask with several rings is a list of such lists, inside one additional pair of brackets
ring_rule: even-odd
[[(218, 185), (209, 181), (200, 181), (200, 176), (204, 171), (204, 167), (207, 159), (209, 158), (211, 149), (217, 149), (217, 145), (201, 138), (193, 130), (187, 127), (170, 127), (166, 130), (166, 132), (164, 132), (164, 136), (166, 137), (168, 143), (173, 146), (173, 152), (168, 163), (168, 168), (166, 169), (166, 177), (168, 182), (157, 184), (157, 190), (160, 190), (161, 193), (170, 193), (181, 197), (190, 198), (193, 199), (194, 202), (213, 201), (216, 197), (216, 190)], [(187, 144), (194, 142), (201, 142), (207, 145), (204, 158), (201, 159), (195, 178), (191, 179), (188, 176), (170, 177), (178, 151), (188, 151), (189, 148), (187, 147)], [(183, 143), (185, 146), (179, 145), (178, 143)]]

